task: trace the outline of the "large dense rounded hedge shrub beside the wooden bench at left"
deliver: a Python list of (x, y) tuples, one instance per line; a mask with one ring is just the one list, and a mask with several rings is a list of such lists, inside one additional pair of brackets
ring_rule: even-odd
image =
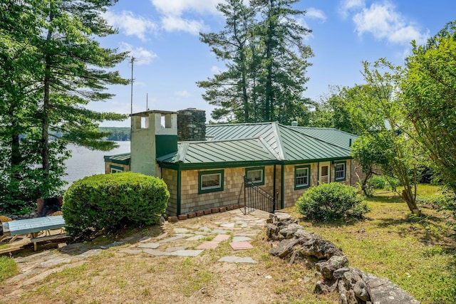
[(63, 196), (63, 219), (75, 238), (121, 226), (157, 224), (170, 192), (162, 179), (123, 172), (99, 174), (74, 182)]

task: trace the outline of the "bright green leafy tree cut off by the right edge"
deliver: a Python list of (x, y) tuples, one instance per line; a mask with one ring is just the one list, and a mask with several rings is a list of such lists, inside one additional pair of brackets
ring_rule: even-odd
[(413, 42), (401, 85), (408, 119), (440, 173), (456, 193), (456, 21), (427, 41)]

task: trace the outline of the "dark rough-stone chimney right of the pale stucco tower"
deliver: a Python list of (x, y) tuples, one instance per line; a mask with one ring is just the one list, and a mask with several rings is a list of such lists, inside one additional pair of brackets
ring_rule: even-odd
[(206, 112), (195, 108), (177, 111), (177, 140), (180, 142), (206, 140)]

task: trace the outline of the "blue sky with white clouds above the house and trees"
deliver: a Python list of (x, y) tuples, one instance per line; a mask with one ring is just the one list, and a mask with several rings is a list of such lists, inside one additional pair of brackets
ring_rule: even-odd
[[(209, 46), (199, 41), (199, 32), (218, 32), (224, 18), (216, 9), (221, 0), (119, 0), (105, 13), (118, 28), (116, 35), (100, 38), (102, 46), (130, 51), (133, 66), (133, 112), (150, 110), (206, 110), (212, 106), (201, 97), (195, 82), (212, 77), (224, 63)], [(361, 61), (385, 57), (402, 65), (410, 53), (410, 41), (424, 43), (445, 23), (456, 19), (455, 0), (301, 0), (306, 10), (299, 19), (312, 30), (306, 43), (314, 51), (309, 61), (310, 77), (305, 97), (318, 100), (328, 85), (363, 83)], [(117, 67), (131, 77), (129, 61)], [(104, 103), (91, 103), (98, 111), (130, 114), (130, 85), (113, 86), (116, 96)], [(103, 122), (103, 126), (130, 126)]]

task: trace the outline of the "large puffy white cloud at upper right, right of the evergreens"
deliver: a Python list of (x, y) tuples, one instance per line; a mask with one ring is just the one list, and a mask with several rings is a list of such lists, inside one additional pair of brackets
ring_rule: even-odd
[(400, 12), (395, 11), (393, 4), (373, 3), (353, 16), (353, 22), (359, 36), (371, 33), (378, 40), (385, 39), (390, 43), (406, 45), (413, 39), (423, 43), (428, 33), (421, 33), (418, 26), (408, 23)]

